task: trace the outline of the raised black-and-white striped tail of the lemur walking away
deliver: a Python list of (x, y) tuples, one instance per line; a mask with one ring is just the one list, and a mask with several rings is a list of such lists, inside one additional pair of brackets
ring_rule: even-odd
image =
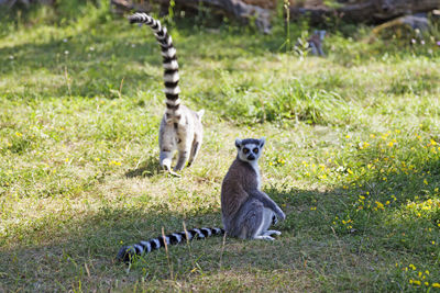
[(168, 116), (179, 115), (180, 88), (178, 86), (178, 64), (176, 57), (176, 49), (173, 46), (173, 40), (168, 35), (166, 27), (161, 25), (161, 22), (153, 19), (146, 13), (136, 12), (129, 16), (130, 23), (145, 23), (154, 32), (158, 44), (162, 49), (163, 65), (164, 65), (164, 83), (166, 95), (166, 114)]

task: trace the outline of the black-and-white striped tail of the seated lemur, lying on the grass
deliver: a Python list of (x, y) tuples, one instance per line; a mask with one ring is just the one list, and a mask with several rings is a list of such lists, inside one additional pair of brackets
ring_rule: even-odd
[(151, 252), (152, 250), (160, 249), (161, 247), (165, 247), (166, 245), (176, 245), (180, 243), (185, 243), (193, 239), (202, 239), (209, 236), (224, 235), (224, 230), (222, 228), (200, 228), (200, 229), (190, 229), (187, 232), (179, 232), (165, 235), (164, 237), (157, 236), (156, 238), (150, 239), (147, 241), (140, 241), (135, 245), (124, 246), (122, 247), (117, 256), (117, 259), (120, 261), (130, 262), (135, 256), (142, 256)]

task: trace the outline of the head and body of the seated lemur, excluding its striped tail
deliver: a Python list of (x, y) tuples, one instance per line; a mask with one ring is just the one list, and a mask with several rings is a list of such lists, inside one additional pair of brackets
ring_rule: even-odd
[(277, 218), (286, 215), (279, 206), (260, 190), (261, 177), (257, 160), (265, 138), (237, 139), (237, 159), (232, 162), (221, 184), (221, 214), (223, 227), (229, 236), (243, 239), (273, 240), (270, 230)]

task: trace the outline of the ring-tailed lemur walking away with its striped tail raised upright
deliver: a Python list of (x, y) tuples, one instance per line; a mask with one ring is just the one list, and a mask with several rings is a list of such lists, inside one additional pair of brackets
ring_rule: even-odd
[(146, 13), (134, 13), (129, 16), (129, 21), (130, 23), (147, 24), (153, 30), (157, 43), (161, 45), (166, 111), (161, 121), (158, 134), (160, 162), (162, 168), (166, 168), (168, 172), (176, 174), (170, 169), (173, 155), (176, 149), (178, 150), (178, 159), (174, 167), (175, 171), (182, 170), (187, 161), (188, 166), (190, 166), (197, 157), (204, 137), (201, 116), (205, 111), (195, 112), (180, 103), (176, 49), (173, 46), (172, 37), (168, 35), (166, 27), (162, 26), (160, 21)]

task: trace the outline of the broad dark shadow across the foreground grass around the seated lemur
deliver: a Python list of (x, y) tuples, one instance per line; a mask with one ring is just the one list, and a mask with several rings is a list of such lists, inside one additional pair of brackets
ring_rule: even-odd
[[(157, 167), (152, 166), (145, 168)], [(417, 167), (425, 171), (428, 182), (435, 182), (429, 189), (438, 187), (440, 160)], [(402, 290), (399, 282), (404, 277), (394, 283), (387, 282), (388, 268), (394, 268), (396, 261), (432, 264), (432, 249), (425, 244), (429, 237), (419, 233), (428, 227), (429, 221), (394, 217), (394, 213), (405, 210), (407, 200), (420, 195), (424, 185), (418, 173), (389, 176), (387, 182), (377, 177), (362, 182), (362, 188), (323, 192), (273, 185), (265, 191), (287, 214), (277, 227), (283, 235), (276, 241), (227, 238), (223, 246), (220, 237), (198, 240), (174, 246), (168, 252), (165, 249), (151, 252), (131, 266), (130, 273), (125, 264), (114, 261), (122, 245), (156, 237), (162, 227), (166, 234), (183, 230), (183, 222), (187, 228), (219, 226), (220, 211), (202, 211), (193, 216), (170, 211), (166, 205), (146, 210), (108, 205), (80, 219), (70, 217), (65, 222), (47, 222), (37, 228), (23, 227), (20, 235), (24, 238), (14, 241), (29, 245), (2, 249), (0, 279), (7, 291), (79, 288), (90, 291), (132, 286), (142, 278), (188, 281), (197, 275), (209, 278), (228, 271), (272, 274), (299, 270), (314, 274), (320, 282), (324, 280), (333, 290), (341, 289), (338, 284), (341, 278), (360, 280), (349, 282), (350, 285), (345, 282), (345, 290), (362, 290), (363, 285), (371, 290)], [(356, 212), (360, 194), (369, 191), (373, 203), (384, 202), (389, 187), (397, 196), (404, 195), (383, 211)], [(354, 232), (342, 219), (352, 219)], [(395, 222), (389, 223), (391, 219)], [(400, 235), (403, 232), (405, 236)], [(435, 269), (430, 271), (437, 273)], [(372, 278), (376, 281), (370, 282)]]

